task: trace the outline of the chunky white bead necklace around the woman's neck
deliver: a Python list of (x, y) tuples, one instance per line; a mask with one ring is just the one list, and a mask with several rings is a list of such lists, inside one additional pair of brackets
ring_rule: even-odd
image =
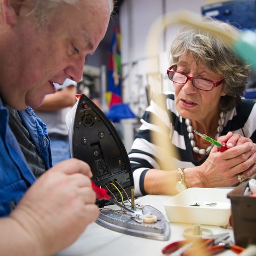
[[(220, 137), (220, 133), (223, 131), (223, 124), (225, 123), (225, 116), (226, 116), (226, 113), (224, 111), (221, 111), (220, 112), (220, 119), (219, 119), (219, 122), (218, 122), (218, 127), (217, 127), (217, 133), (215, 135), (215, 140), (218, 140), (218, 138)], [(210, 146), (208, 146), (205, 149), (199, 149), (198, 147), (196, 147), (196, 142), (194, 141), (194, 129), (191, 125), (191, 121), (190, 119), (186, 119), (185, 120), (185, 123), (187, 125), (187, 131), (188, 131), (188, 138), (190, 139), (190, 144), (191, 144), (191, 147), (193, 149), (193, 151), (197, 154), (200, 154), (200, 155), (205, 155), (205, 154), (208, 154), (211, 149), (213, 148), (213, 144), (211, 144)]]

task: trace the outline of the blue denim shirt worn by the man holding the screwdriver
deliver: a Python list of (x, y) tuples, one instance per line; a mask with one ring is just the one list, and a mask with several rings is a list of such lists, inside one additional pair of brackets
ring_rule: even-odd
[[(51, 166), (50, 140), (46, 127), (31, 108), (19, 111), (31, 140), (41, 153), (47, 167)], [(0, 217), (7, 216), (27, 189), (35, 182), (20, 146), (9, 124), (8, 110), (0, 99)]]

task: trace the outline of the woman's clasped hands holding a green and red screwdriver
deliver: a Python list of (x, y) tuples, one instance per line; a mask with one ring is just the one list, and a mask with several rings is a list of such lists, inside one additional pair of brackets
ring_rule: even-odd
[(205, 187), (227, 187), (238, 182), (238, 174), (251, 177), (256, 173), (256, 145), (251, 139), (229, 132), (218, 139), (228, 149), (218, 152), (215, 146), (199, 167), (199, 177)]

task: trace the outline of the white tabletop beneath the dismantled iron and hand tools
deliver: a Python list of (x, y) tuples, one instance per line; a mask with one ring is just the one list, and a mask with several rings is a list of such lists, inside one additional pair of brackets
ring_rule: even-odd
[[(138, 198), (135, 203), (153, 206), (161, 211), (164, 217), (167, 219), (163, 202), (169, 198), (171, 198), (171, 196), (147, 195)], [(102, 227), (97, 223), (91, 223), (74, 244), (55, 254), (55, 256), (163, 256), (163, 247), (171, 242), (185, 239), (182, 236), (183, 231), (186, 228), (192, 228), (193, 226), (194, 225), (191, 224), (170, 222), (171, 235), (169, 241), (157, 241), (154, 239), (118, 233)], [(234, 241), (233, 230), (230, 228), (225, 229), (217, 226), (202, 226), (202, 228), (210, 229), (214, 235), (220, 233), (229, 233), (230, 237)], [(231, 256), (237, 254), (230, 250), (226, 250), (218, 255)]]

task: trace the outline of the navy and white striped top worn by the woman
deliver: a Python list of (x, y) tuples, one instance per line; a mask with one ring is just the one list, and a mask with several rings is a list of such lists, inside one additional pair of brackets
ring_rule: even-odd
[[(255, 103), (254, 100), (243, 99), (241, 105), (229, 110), (226, 113), (221, 135), (231, 131), (256, 143)], [(141, 118), (141, 123), (129, 153), (135, 196), (146, 195), (143, 184), (148, 170), (164, 170), (166, 166), (170, 166), (168, 170), (199, 166), (208, 157), (206, 155), (199, 161), (194, 159), (185, 118), (182, 118), (175, 109), (174, 94), (160, 94), (156, 99), (151, 100), (150, 106)], [(161, 153), (163, 144), (158, 145), (157, 141), (173, 148), (167, 157), (162, 154), (163, 152)]]

